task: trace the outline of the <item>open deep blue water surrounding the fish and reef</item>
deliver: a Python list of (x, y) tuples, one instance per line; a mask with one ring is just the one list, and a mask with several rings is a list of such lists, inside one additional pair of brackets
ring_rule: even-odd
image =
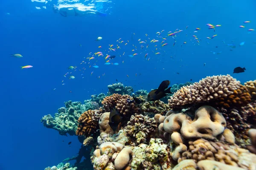
[[(256, 42), (256, 31), (247, 32), (249, 28), (256, 29), (254, 0), (246, 3), (234, 0), (113, 0), (108, 4), (112, 8), (108, 8), (106, 17), (62, 17), (53, 13), (50, 7), (53, 2), (40, 10), (35, 8), (36, 3), (0, 2), (0, 170), (41, 170), (76, 155), (80, 147), (76, 136), (60, 136), (57, 131), (45, 128), (41, 117), (53, 115), (67, 100), (83, 102), (92, 94), (106, 94), (107, 85), (115, 83), (116, 79), (131, 85), (134, 91), (141, 88), (150, 91), (164, 79), (169, 79), (171, 84), (190, 79), (195, 82), (219, 74), (231, 74), (241, 82), (255, 79), (256, 43), (253, 42)], [(247, 20), (251, 23), (244, 24)], [(213, 32), (207, 23), (221, 27)], [(239, 28), (241, 25), (245, 28)], [(186, 26), (189, 27), (185, 29)], [(195, 28), (201, 30), (193, 33)], [(160, 35), (165, 37), (168, 31), (176, 29), (183, 31), (177, 35), (174, 46), (174, 40), (168, 37), (168, 45), (164, 47), (157, 42), (160, 48), (157, 52), (162, 54), (151, 52), (155, 47), (145, 34), (152, 40), (157, 38), (158, 31), (165, 30)], [(135, 33), (133, 40), (132, 33)], [(201, 39), (199, 45), (192, 43), (195, 42), (194, 34)], [(214, 34), (218, 34), (214, 39), (206, 39)], [(94, 42), (99, 36), (102, 40)], [(127, 46), (124, 42), (120, 45), (116, 42), (119, 38), (130, 42)], [(144, 45), (140, 50), (138, 39), (147, 40), (150, 47), (146, 49)], [(236, 44), (236, 48), (230, 51), (221, 40)], [(183, 44), (184, 41), (187, 43)], [(245, 44), (239, 47), (240, 42)], [(80, 65), (83, 60), (88, 62), (86, 57), (90, 52), (108, 50), (109, 44), (121, 47), (116, 53), (111, 52), (117, 56), (112, 61), (119, 65), (104, 65), (103, 57), (96, 57), (98, 62), (90, 60), (99, 68)], [(139, 55), (130, 58), (127, 56), (134, 54), (132, 44), (137, 46)], [(100, 45), (102, 49), (98, 48)], [(217, 55), (210, 51), (222, 52)], [(146, 53), (149, 60), (144, 58)], [(23, 58), (9, 57), (10, 54), (22, 54)], [(33, 68), (20, 70), (24, 65), (33, 65)], [(76, 79), (65, 78), (63, 75), (70, 65), (85, 67), (84, 78), (79, 71), (73, 72)], [(246, 71), (233, 74), (238, 66), (245, 67)], [(62, 80), (65, 85), (61, 85)], [(69, 141), (72, 141), (71, 147), (67, 145)]]

